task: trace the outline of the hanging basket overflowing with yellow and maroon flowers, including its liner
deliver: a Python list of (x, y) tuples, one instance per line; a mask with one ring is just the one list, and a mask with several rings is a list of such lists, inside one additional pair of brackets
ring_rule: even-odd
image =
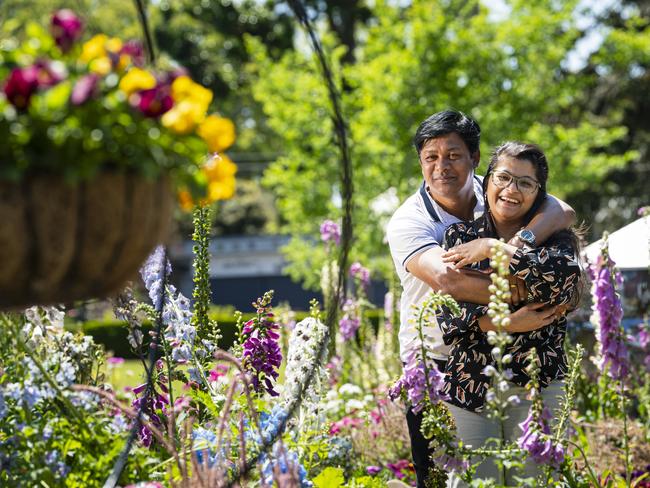
[(212, 92), (137, 41), (78, 42), (83, 24), (61, 10), (0, 50), (0, 308), (109, 295), (166, 236), (174, 192), (234, 193)]

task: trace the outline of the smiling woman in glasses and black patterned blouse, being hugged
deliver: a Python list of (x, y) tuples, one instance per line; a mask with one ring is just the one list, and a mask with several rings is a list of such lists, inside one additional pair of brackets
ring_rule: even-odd
[[(448, 251), (443, 259), (456, 267), (488, 270), (496, 240), (510, 241), (543, 203), (547, 178), (548, 164), (539, 147), (520, 142), (499, 146), (483, 179), (486, 212), (476, 221), (460, 222), (447, 229)], [(512, 355), (508, 368), (512, 370), (513, 385), (508, 395), (517, 394), (522, 401), (507, 412), (505, 432), (482, 413), (490, 385), (490, 378), (483, 371), (494, 363), (493, 346), (487, 342), (487, 332), (494, 330), (487, 306), (461, 302), (459, 317), (451, 317), (445, 309), (438, 316), (443, 340), (451, 347), (444, 390), (449, 395), (449, 409), (456, 419), (458, 436), (465, 445), (475, 448), (490, 437), (505, 435), (507, 440), (515, 440), (520, 436), (517, 424), (525, 419), (530, 406), (530, 402), (523, 400), (523, 387), (530, 379), (525, 369), (533, 347), (541, 363), (539, 381), (545, 404), (557, 407), (561, 380), (566, 373), (564, 312), (574, 307), (579, 298), (579, 249), (573, 232), (558, 232), (537, 248), (524, 245), (520, 249), (510, 244), (503, 247), (510, 273), (522, 279), (528, 291), (528, 300), (511, 313), (506, 328), (514, 339), (506, 351)], [(526, 471), (534, 473), (530, 466)], [(476, 476), (500, 478), (491, 460), (479, 466)]]

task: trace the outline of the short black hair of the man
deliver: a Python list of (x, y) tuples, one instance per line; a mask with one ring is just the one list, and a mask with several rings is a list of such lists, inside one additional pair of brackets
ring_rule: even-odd
[(457, 110), (443, 110), (428, 117), (415, 132), (413, 144), (420, 154), (422, 146), (429, 140), (455, 132), (463, 140), (470, 154), (478, 151), (481, 142), (481, 128), (471, 117)]

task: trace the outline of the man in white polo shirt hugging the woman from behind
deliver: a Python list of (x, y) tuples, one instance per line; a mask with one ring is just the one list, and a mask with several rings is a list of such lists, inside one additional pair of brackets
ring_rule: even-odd
[[(488, 303), (489, 277), (442, 261), (445, 229), (460, 220), (473, 220), (484, 210), (481, 178), (475, 176), (480, 152), (481, 129), (478, 123), (462, 112), (445, 110), (427, 118), (415, 133), (413, 143), (418, 153), (424, 182), (393, 214), (386, 231), (391, 255), (402, 284), (400, 357), (419, 347), (419, 336), (413, 319), (418, 305), (430, 290), (448, 293), (456, 300)], [(544, 242), (560, 229), (569, 227), (575, 212), (554, 197), (547, 198), (539, 213), (526, 229), (519, 231), (514, 244), (535, 245)], [(511, 280), (512, 301), (525, 298), (525, 286)], [(540, 321), (543, 312), (540, 311)], [(448, 347), (436, 324), (425, 327), (425, 336), (442, 369)], [(411, 453), (418, 478), (424, 487), (431, 462), (428, 441), (420, 432), (421, 414), (410, 410), (406, 415), (411, 437)]]

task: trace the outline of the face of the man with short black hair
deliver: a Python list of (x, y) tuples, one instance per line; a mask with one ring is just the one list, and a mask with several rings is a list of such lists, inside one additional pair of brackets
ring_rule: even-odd
[(465, 142), (452, 132), (429, 139), (420, 151), (422, 176), (432, 197), (457, 198), (472, 185), (478, 151), (470, 154)]

